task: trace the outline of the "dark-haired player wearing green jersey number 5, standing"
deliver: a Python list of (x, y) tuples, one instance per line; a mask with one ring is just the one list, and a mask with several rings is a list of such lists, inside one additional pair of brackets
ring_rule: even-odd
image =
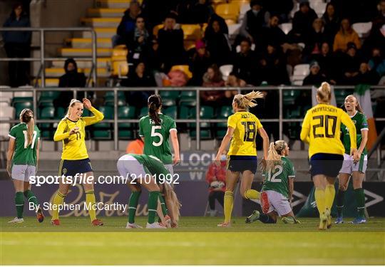
[[(139, 121), (139, 135), (144, 142), (143, 154), (160, 159), (165, 164), (165, 168), (173, 175), (173, 165), (180, 162), (177, 128), (175, 120), (162, 114), (161, 110), (162, 99), (160, 95), (150, 95), (148, 98), (148, 115), (140, 118)], [(169, 139), (173, 145), (174, 159), (171, 154)], [(163, 193), (159, 195), (163, 215), (170, 225), (172, 221), (175, 221), (175, 219), (170, 218), (167, 210), (167, 206), (172, 205), (171, 199), (168, 198), (173, 194), (170, 192), (172, 187), (163, 187), (162, 184), (159, 186), (160, 192)], [(139, 196), (135, 197), (139, 198)]]

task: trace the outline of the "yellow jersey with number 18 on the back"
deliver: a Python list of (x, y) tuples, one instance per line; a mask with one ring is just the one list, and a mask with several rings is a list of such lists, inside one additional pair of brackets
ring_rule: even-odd
[(228, 118), (227, 127), (235, 129), (227, 155), (257, 155), (255, 137), (257, 137), (257, 130), (262, 128), (262, 124), (254, 114), (247, 111), (235, 112)]

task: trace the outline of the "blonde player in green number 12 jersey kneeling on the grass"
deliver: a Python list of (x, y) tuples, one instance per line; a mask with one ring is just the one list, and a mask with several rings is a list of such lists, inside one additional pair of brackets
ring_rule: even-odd
[(292, 196), (294, 191), (295, 170), (287, 158), (289, 145), (283, 140), (270, 143), (265, 164), (262, 164), (262, 185), (260, 211), (253, 211), (247, 217), (246, 223), (260, 220), (264, 224), (275, 224), (277, 216), (282, 217), (285, 224), (298, 224), (292, 211)]

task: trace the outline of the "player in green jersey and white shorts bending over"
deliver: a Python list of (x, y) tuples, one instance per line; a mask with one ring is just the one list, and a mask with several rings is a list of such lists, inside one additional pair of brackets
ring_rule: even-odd
[[(135, 224), (135, 213), (138, 206), (138, 198), (135, 192), (140, 192), (140, 187), (148, 190), (148, 222), (146, 228), (165, 229), (166, 226), (155, 221), (157, 214), (158, 199), (160, 195), (159, 183), (167, 183), (172, 180), (170, 172), (160, 159), (148, 155), (126, 154), (118, 159), (118, 172), (123, 179), (128, 179), (128, 184), (132, 190), (128, 201), (128, 223), (125, 228), (142, 228)], [(178, 204), (178, 206), (180, 206)], [(178, 216), (178, 215), (177, 215)]]

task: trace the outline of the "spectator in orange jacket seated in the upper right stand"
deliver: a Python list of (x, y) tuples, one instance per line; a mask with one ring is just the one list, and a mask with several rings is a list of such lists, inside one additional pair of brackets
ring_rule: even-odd
[(356, 48), (361, 48), (358, 34), (351, 28), (349, 19), (345, 18), (342, 19), (341, 27), (334, 37), (333, 51), (347, 51), (347, 44), (350, 42), (354, 43)]

